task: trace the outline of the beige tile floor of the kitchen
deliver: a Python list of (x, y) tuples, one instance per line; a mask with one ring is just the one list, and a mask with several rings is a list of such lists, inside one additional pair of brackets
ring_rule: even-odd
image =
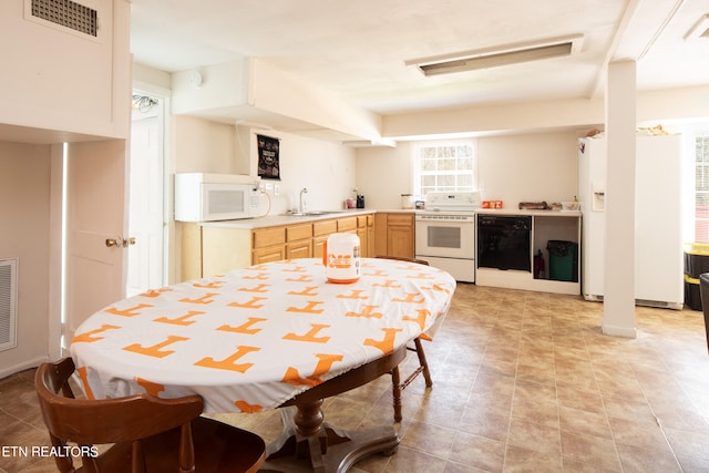
[[(637, 339), (600, 333), (579, 297), (459, 285), (424, 342), (434, 385), (403, 393), (401, 444), (352, 472), (707, 472), (709, 356), (701, 312), (637, 308)], [(412, 364), (413, 356), (405, 361)], [(25, 371), (0, 380), (0, 448), (48, 444)], [(335, 425), (393, 422), (390, 378), (326, 401)], [(277, 411), (220, 415), (267, 441)], [(0, 472), (53, 472), (0, 451)]]

